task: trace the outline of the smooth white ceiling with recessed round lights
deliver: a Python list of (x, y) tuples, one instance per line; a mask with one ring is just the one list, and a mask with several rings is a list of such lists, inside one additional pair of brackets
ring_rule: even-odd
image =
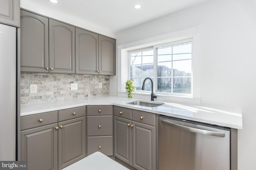
[[(21, 0), (22, 8), (51, 18), (114, 35), (129, 27), (209, 0)], [(134, 9), (140, 4), (141, 9)], [(93, 30), (94, 29), (94, 30)], [(104, 34), (104, 33), (102, 33)]]

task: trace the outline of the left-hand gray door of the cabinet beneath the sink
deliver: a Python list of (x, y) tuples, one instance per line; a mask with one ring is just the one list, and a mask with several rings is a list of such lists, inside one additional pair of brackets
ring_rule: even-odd
[(132, 165), (132, 121), (114, 116), (114, 156)]

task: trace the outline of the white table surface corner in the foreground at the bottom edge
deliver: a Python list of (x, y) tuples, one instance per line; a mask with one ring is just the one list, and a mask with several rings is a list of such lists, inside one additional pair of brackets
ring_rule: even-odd
[(101, 152), (94, 152), (89, 156), (67, 166), (62, 170), (128, 170), (118, 162)]

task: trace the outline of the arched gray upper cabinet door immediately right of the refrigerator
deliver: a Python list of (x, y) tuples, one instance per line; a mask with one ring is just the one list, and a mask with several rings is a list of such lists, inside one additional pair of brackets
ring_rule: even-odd
[(20, 10), (20, 70), (49, 72), (48, 18)]

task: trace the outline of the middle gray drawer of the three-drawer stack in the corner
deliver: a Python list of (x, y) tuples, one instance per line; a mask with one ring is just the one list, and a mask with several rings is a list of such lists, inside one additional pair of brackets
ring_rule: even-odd
[(88, 116), (87, 136), (113, 135), (113, 116)]

